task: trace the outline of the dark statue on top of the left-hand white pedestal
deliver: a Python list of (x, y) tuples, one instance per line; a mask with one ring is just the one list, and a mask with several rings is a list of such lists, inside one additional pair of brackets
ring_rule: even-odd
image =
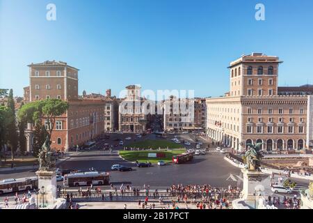
[(54, 157), (54, 153), (51, 152), (50, 149), (50, 140), (47, 136), (45, 143), (42, 145), (41, 150), (38, 154), (39, 160), (39, 170), (41, 171), (49, 171), (56, 167), (56, 157)]

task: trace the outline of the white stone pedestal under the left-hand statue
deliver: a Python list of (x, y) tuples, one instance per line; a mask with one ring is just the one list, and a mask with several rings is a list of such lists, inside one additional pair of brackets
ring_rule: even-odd
[(36, 172), (38, 176), (38, 205), (50, 206), (56, 201), (56, 171), (42, 171)]

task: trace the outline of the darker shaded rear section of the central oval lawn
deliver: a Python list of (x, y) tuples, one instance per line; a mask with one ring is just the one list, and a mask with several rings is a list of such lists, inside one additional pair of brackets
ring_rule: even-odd
[(180, 144), (175, 144), (172, 141), (167, 140), (145, 140), (145, 141), (136, 141), (127, 145), (127, 148), (184, 148)]

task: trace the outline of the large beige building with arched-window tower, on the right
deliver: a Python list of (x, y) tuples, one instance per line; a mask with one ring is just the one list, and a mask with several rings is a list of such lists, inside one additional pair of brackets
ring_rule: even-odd
[(277, 56), (252, 53), (230, 63), (230, 93), (207, 99), (207, 134), (242, 151), (263, 143), (267, 151), (307, 146), (307, 95), (278, 94)]

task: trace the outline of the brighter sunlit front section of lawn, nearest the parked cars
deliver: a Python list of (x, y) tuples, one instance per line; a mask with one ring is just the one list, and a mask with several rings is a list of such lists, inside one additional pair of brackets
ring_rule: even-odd
[[(173, 149), (168, 151), (120, 151), (120, 156), (131, 162), (138, 160), (138, 162), (150, 161), (153, 164), (156, 164), (159, 160), (163, 160), (164, 162), (172, 162), (173, 155), (179, 155), (184, 152), (186, 152), (185, 149)], [(148, 153), (164, 153), (165, 157), (148, 157)]]

